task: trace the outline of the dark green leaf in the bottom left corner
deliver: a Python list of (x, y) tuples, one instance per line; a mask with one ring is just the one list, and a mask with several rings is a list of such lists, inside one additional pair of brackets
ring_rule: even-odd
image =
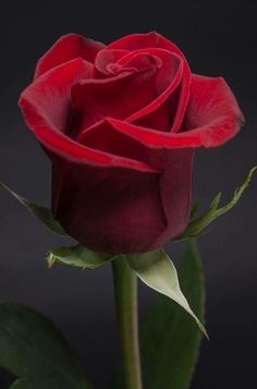
[(19, 377), (10, 389), (89, 389), (66, 340), (42, 315), (0, 303), (0, 366)]

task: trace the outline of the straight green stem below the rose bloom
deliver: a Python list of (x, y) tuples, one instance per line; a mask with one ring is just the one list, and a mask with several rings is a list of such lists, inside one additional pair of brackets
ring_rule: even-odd
[(138, 340), (137, 276), (128, 267), (125, 256), (115, 258), (112, 266), (125, 388), (143, 389)]

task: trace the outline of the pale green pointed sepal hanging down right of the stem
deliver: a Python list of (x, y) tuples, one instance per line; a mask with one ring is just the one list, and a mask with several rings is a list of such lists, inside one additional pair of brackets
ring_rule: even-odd
[(208, 338), (205, 327), (191, 309), (180, 288), (175, 266), (163, 248), (143, 254), (130, 254), (125, 257), (132, 270), (136, 272), (143, 282), (183, 307)]

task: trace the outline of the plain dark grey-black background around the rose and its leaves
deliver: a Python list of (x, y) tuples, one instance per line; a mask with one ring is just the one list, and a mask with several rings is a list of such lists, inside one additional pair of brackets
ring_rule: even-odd
[[(110, 42), (125, 34), (156, 29), (182, 48), (194, 72), (223, 75), (244, 111), (246, 125), (235, 139), (218, 149), (198, 150), (196, 157), (194, 187), (203, 206), (220, 190), (228, 199), (257, 161), (256, 14), (254, 0), (2, 3), (0, 179), (19, 193), (49, 204), (50, 165), (26, 130), (16, 100), (32, 80), (37, 59), (59, 36), (75, 32)], [(211, 340), (204, 342), (193, 389), (257, 388), (256, 182), (236, 209), (199, 242)], [(97, 388), (107, 388), (120, 360), (111, 269), (57, 266), (49, 271), (45, 253), (64, 243), (0, 193), (0, 297), (49, 316), (82, 355)], [(178, 255), (178, 248), (169, 251)], [(146, 287), (140, 292), (144, 312), (154, 293)], [(5, 381), (2, 373), (1, 389)]]

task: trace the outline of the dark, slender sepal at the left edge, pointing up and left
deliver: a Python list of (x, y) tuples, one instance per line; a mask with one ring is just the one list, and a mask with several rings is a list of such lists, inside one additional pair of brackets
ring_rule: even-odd
[(39, 219), (50, 231), (59, 235), (66, 235), (66, 232), (63, 230), (59, 221), (54, 219), (51, 209), (42, 207), (26, 199), (23, 196), (20, 196), (17, 193), (12, 191), (2, 182), (0, 182), (0, 187), (9, 192), (15, 199), (19, 200), (20, 204), (22, 204), (30, 214), (33, 214), (37, 219)]

